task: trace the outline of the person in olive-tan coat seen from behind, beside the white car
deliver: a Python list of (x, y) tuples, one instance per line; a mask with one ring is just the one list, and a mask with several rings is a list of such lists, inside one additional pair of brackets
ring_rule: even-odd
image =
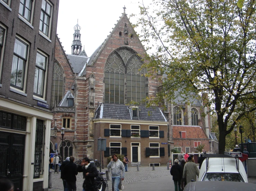
[(187, 184), (191, 182), (191, 180), (196, 181), (196, 176), (199, 175), (199, 170), (196, 166), (196, 163), (192, 161), (192, 157), (188, 157), (188, 162), (184, 166), (183, 170), (183, 178), (186, 178)]

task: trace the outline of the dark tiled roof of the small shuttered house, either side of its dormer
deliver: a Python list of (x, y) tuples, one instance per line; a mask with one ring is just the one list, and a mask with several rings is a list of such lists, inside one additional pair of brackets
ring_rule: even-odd
[[(167, 121), (160, 108), (139, 106), (141, 121)], [(95, 119), (132, 120), (129, 106), (124, 104), (101, 103), (95, 112)]]

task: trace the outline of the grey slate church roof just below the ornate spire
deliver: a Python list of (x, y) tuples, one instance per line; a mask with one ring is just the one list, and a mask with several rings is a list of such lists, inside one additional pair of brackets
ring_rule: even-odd
[(86, 63), (89, 60), (89, 57), (74, 54), (67, 54), (67, 57), (74, 73), (79, 73), (83, 68), (85, 68)]

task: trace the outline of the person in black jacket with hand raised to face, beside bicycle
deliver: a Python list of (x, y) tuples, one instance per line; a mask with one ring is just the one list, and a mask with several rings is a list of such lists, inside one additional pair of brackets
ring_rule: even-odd
[(83, 182), (83, 191), (94, 191), (92, 187), (94, 178), (98, 176), (98, 170), (90, 163), (89, 158), (84, 158), (77, 168), (78, 172), (83, 172), (85, 181)]

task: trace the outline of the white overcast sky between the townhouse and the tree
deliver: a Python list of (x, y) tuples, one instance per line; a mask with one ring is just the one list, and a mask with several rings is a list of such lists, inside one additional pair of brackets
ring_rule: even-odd
[[(77, 19), (81, 27), (82, 46), (85, 46), (87, 56), (90, 57), (113, 30), (114, 24), (122, 16), (124, 5), (128, 17), (132, 13), (139, 15), (139, 1), (142, 2), (141, 0), (60, 0), (57, 34), (66, 53), (71, 54), (73, 28), (77, 24)], [(151, 0), (143, 0), (143, 2), (149, 5)], [(130, 22), (136, 23), (136, 18), (130, 19)]]

